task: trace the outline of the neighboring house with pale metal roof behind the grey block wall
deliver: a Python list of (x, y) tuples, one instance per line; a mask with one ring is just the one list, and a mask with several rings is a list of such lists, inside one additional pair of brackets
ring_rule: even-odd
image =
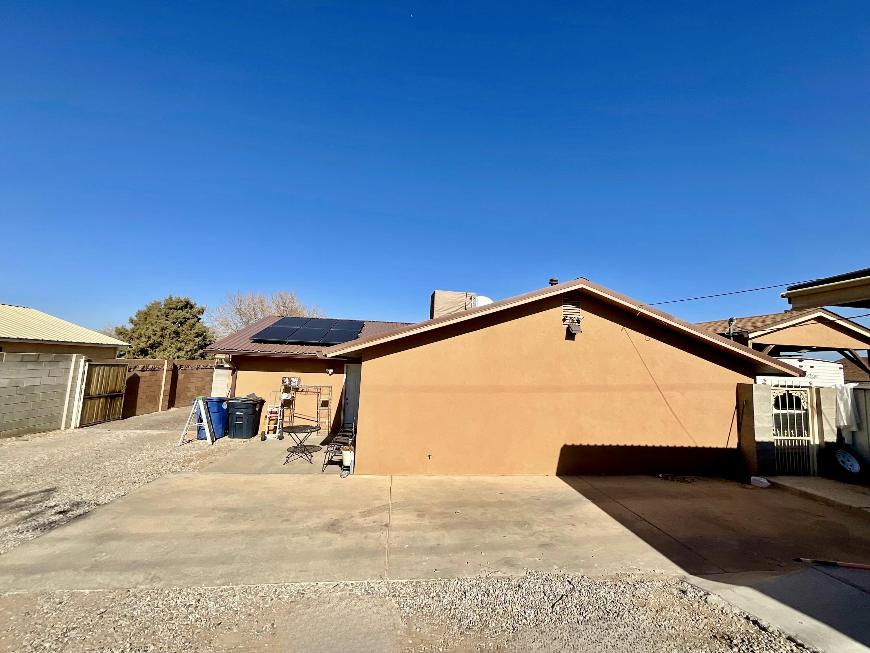
[(126, 342), (91, 331), (28, 306), (0, 304), (0, 352), (77, 353), (117, 358)]

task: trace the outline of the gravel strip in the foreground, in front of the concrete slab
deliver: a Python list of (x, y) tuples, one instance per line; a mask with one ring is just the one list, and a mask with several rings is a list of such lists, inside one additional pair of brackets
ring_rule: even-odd
[(3, 651), (807, 651), (677, 578), (449, 581), (0, 596)]

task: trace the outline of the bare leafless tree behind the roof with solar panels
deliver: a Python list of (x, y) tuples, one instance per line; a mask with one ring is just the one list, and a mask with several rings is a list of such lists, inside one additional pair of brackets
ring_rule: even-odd
[(236, 291), (227, 293), (223, 304), (211, 306), (205, 312), (205, 321), (218, 338), (223, 338), (270, 315), (322, 318), (324, 313), (317, 306), (308, 306), (299, 300), (296, 293), (281, 290), (278, 293), (264, 295)]

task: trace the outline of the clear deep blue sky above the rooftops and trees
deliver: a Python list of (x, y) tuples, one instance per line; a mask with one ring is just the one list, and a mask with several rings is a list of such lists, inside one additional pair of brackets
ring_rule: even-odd
[(286, 289), (421, 320), (435, 288), (653, 302), (870, 266), (868, 25), (867, 0), (7, 0), (0, 301), (100, 327)]

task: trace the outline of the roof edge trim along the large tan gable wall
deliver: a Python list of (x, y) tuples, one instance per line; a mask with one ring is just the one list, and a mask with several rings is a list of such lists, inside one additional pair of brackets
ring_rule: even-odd
[(732, 353), (740, 359), (753, 363), (756, 366), (757, 374), (788, 374), (790, 376), (803, 375), (803, 372), (801, 372), (796, 367), (787, 365), (786, 363), (767, 356), (764, 353), (753, 351), (753, 349), (750, 349), (749, 347), (744, 347), (739, 343), (733, 342), (733, 340), (728, 340), (714, 333), (710, 333), (709, 331), (696, 327), (689, 322), (680, 320), (673, 315), (670, 315), (663, 311), (659, 311), (659, 309), (653, 306), (642, 304), (638, 300), (632, 300), (630, 297), (615, 293), (609, 288), (599, 286), (598, 284), (592, 283), (592, 281), (590, 281), (589, 279), (584, 279), (583, 277), (580, 277), (579, 279), (573, 279), (572, 281), (566, 281), (565, 283), (561, 283), (556, 286), (541, 288), (540, 290), (533, 291), (532, 293), (525, 293), (517, 295), (516, 297), (508, 298), (506, 300), (496, 301), (492, 304), (487, 304), (485, 306), (478, 306), (477, 308), (472, 308), (468, 311), (461, 311), (459, 313), (452, 313), (450, 315), (442, 315), (441, 317), (435, 318), (434, 320), (426, 320), (425, 322), (418, 322), (416, 324), (412, 324), (407, 327), (400, 327), (398, 329), (393, 329), (392, 331), (387, 331), (385, 333), (378, 333), (368, 336), (366, 338), (351, 340), (351, 342), (345, 342), (341, 345), (333, 345), (332, 347), (326, 348), (324, 350), (324, 353), (327, 358), (332, 358), (334, 356), (353, 355), (361, 352), (367, 347), (381, 345), (386, 342), (390, 342), (391, 340), (407, 338), (412, 335), (417, 335), (418, 333), (426, 333), (441, 327), (446, 327), (447, 325), (457, 324), (458, 322), (463, 322), (465, 320), (473, 320), (474, 318), (482, 315), (498, 313), (499, 311), (504, 311), (505, 309), (512, 308), (514, 306), (522, 306), (532, 301), (544, 300), (548, 297), (554, 297), (573, 291), (583, 291), (585, 293), (589, 293), (595, 298), (603, 300), (608, 304), (626, 308), (632, 313), (637, 313), (639, 317), (659, 322), (659, 324), (668, 327), (678, 333), (682, 333), (689, 338), (692, 338), (693, 340), (705, 342), (706, 344), (716, 347), (719, 350), (725, 351), (726, 353)]

